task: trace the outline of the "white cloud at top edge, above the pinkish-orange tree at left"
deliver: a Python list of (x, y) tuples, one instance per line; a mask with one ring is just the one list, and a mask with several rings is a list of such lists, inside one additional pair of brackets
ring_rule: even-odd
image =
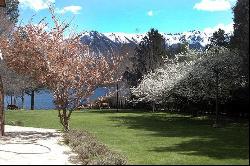
[(55, 0), (19, 0), (21, 7), (30, 8), (35, 11), (47, 9), (49, 4), (54, 3)]

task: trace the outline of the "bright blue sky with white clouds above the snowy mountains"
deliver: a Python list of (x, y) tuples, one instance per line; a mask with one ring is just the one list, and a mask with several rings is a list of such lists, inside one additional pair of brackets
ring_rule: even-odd
[[(48, 2), (56, 13), (71, 20), (77, 31), (144, 33), (150, 28), (177, 33), (189, 30), (232, 29), (236, 0), (19, 0), (26, 23), (48, 17)], [(49, 19), (48, 19), (49, 20)]]

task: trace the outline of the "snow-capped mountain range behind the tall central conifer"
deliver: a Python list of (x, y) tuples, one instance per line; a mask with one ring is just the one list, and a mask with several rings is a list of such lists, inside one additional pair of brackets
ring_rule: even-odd
[[(212, 34), (201, 31), (189, 31), (176, 34), (161, 33), (165, 38), (166, 47), (174, 47), (180, 43), (188, 43), (190, 48), (200, 49), (209, 44), (209, 38)], [(90, 46), (90, 50), (95, 54), (108, 55), (110, 53), (117, 53), (122, 45), (131, 45), (135, 47), (143, 37), (144, 34), (128, 34), (128, 33), (99, 33), (97, 31), (90, 31), (83, 33), (81, 38), (82, 43)]]

